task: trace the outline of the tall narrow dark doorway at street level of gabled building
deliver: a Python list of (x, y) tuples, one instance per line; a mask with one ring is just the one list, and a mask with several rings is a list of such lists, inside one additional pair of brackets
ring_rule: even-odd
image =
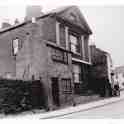
[(56, 106), (59, 106), (59, 84), (58, 84), (58, 78), (52, 78), (52, 98), (53, 103)]

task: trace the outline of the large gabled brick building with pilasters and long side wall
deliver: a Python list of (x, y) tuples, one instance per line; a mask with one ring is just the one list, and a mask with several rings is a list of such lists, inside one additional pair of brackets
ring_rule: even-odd
[(72, 104), (74, 93), (87, 90), (91, 34), (76, 6), (6, 27), (0, 30), (0, 76), (40, 79), (49, 108)]

